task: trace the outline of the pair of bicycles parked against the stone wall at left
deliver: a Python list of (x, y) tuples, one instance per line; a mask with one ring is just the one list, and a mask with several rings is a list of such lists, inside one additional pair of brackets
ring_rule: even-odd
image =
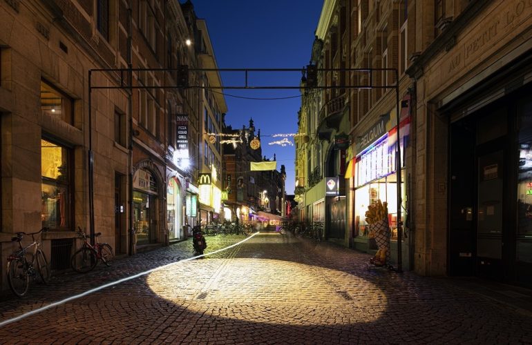
[[(48, 228), (42, 228), (37, 233), (19, 232), (17, 236), (11, 237), (12, 242), (19, 244), (19, 249), (8, 256), (8, 284), (17, 297), (24, 297), (28, 293), (32, 280), (41, 280), (44, 284), (50, 280), (50, 265), (41, 249), (41, 242), (36, 239), (36, 235), (46, 233), (46, 231)], [(28, 246), (22, 246), (22, 239), (25, 235), (32, 238)], [(79, 227), (77, 235), (83, 239), (83, 245), (70, 257), (70, 266), (73, 270), (87, 273), (93, 270), (99, 261), (106, 266), (111, 266), (115, 254), (109, 244), (99, 243), (98, 237), (102, 233), (95, 234), (94, 245), (89, 242), (90, 237)]]

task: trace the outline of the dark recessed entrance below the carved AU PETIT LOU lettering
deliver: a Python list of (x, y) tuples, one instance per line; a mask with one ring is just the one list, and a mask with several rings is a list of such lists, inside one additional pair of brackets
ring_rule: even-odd
[(448, 201), (449, 275), (531, 286), (532, 101), (525, 90), (450, 124)]

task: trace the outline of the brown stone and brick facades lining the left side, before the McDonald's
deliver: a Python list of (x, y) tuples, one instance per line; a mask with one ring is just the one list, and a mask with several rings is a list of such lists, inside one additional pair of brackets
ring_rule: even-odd
[(183, 239), (184, 226), (196, 223), (187, 207), (199, 192), (201, 99), (179, 87), (177, 70), (189, 66), (189, 83), (199, 85), (190, 8), (161, 0), (0, 3), (2, 288), (17, 231), (48, 227), (44, 252), (61, 271), (81, 244), (78, 226), (132, 255)]

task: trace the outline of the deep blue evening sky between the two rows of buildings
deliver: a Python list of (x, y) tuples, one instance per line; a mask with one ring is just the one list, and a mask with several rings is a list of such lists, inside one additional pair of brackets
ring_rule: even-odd
[[(184, 0), (182, 0), (184, 2)], [(303, 68), (310, 60), (314, 32), (323, 0), (192, 0), (198, 18), (205, 19), (218, 68)], [(222, 73), (225, 86), (243, 86), (243, 73)], [(298, 86), (301, 72), (250, 73), (249, 86)], [(297, 131), (301, 106), (299, 90), (225, 90), (226, 124), (249, 126), (253, 118), (260, 129), (263, 156), (273, 159), (277, 169), (287, 170), (287, 194), (294, 193), (295, 146), (268, 145), (282, 138), (267, 137)], [(250, 100), (229, 97), (274, 98)], [(290, 141), (294, 142), (292, 137)]]

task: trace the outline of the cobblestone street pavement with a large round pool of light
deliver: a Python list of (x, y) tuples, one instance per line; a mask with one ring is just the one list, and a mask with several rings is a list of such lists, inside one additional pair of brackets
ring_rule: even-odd
[[(244, 237), (207, 237), (206, 253)], [(178, 262), (0, 327), (0, 343), (531, 344), (532, 313), (445, 279), (367, 270), (369, 255), (260, 234), (192, 256), (191, 240), (0, 295), (0, 322)]]

